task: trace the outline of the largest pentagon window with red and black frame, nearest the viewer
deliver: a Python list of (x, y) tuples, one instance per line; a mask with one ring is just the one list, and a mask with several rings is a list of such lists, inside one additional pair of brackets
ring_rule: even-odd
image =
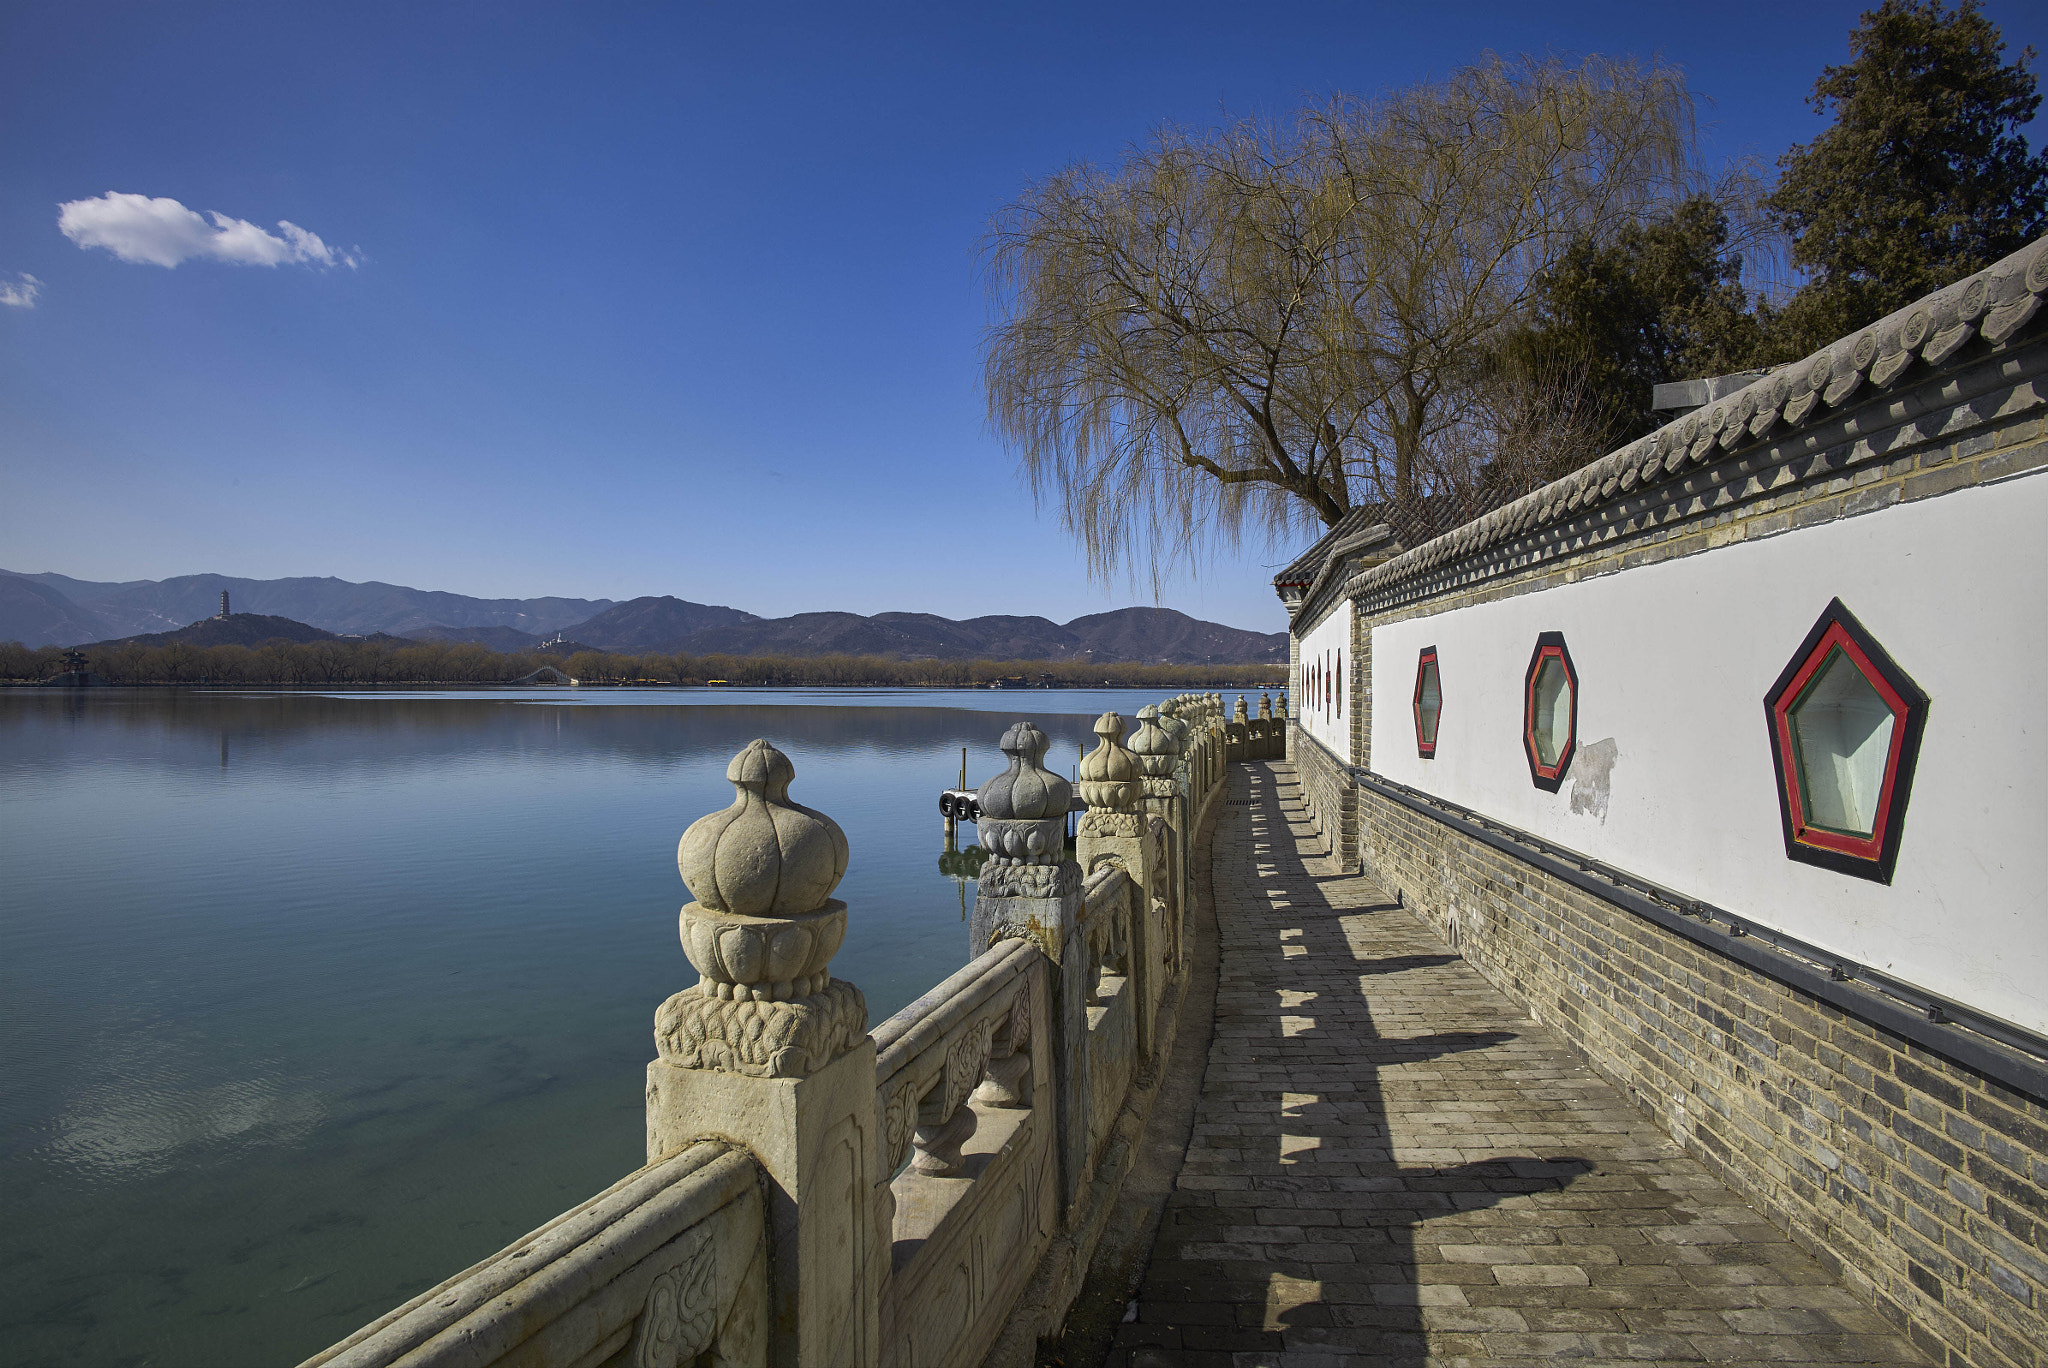
[(1927, 694), (1837, 598), (1763, 709), (1786, 856), (1890, 883)]

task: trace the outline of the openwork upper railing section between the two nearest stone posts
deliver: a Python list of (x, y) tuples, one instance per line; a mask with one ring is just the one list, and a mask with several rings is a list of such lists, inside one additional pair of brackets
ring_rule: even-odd
[(874, 1096), (895, 1171), (903, 1159), (928, 1178), (961, 1171), (975, 1110), (1030, 1106), (1030, 975), (1044, 956), (1004, 940), (874, 1028)]

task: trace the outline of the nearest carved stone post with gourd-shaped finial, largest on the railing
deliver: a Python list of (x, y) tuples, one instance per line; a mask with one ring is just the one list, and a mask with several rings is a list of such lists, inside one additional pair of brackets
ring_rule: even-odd
[(682, 948), (702, 975), (655, 1012), (647, 1159), (719, 1137), (770, 1182), (770, 1337), (776, 1368), (877, 1362), (887, 1241), (874, 1235), (874, 1040), (860, 989), (834, 979), (846, 833), (791, 803), (797, 776), (768, 741), (739, 752), (737, 797), (682, 833), (696, 901)]

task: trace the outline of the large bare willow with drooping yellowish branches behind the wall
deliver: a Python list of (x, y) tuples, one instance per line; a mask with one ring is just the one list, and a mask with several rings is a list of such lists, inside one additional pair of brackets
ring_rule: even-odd
[(985, 242), (989, 420), (1100, 580), (1157, 586), (1358, 504), (1436, 530), (1507, 473), (1475, 469), (1479, 434), (1583, 440), (1530, 397), (1571, 379), (1495, 352), (1542, 270), (1663, 203), (1692, 145), (1669, 68), (1489, 59), (1069, 166)]

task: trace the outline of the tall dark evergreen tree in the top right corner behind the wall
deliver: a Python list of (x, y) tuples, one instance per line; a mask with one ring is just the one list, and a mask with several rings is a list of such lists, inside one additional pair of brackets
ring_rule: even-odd
[(1835, 125), (1792, 147), (1765, 201), (1810, 272), (1774, 352), (1800, 354), (1980, 270), (2048, 227), (2048, 154), (2028, 154), (2040, 106), (2021, 49), (2003, 61), (1976, 0), (1884, 0), (1851, 59), (1815, 82)]

